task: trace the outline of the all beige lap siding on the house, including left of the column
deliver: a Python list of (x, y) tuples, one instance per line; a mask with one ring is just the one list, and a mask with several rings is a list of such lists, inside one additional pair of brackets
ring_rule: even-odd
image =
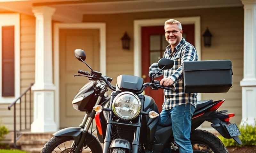
[[(236, 123), (241, 120), (241, 87), (243, 78), (243, 29), (244, 9), (242, 7), (192, 9), (175, 11), (153, 11), (107, 15), (84, 15), (84, 22), (106, 23), (107, 36), (107, 75), (114, 79), (121, 74), (133, 75), (133, 21), (150, 18), (192, 17), (201, 18), (201, 35), (209, 27), (212, 37), (212, 47), (204, 47), (201, 38), (202, 60), (231, 59), (233, 64), (233, 86), (228, 93), (207, 93), (203, 99), (226, 99), (221, 109), (236, 113), (231, 119)], [(20, 15), (20, 89), (25, 91), (30, 83), (35, 81), (35, 18)], [(131, 37), (130, 50), (123, 50), (121, 38), (127, 31)], [(29, 96), (27, 96), (28, 98)], [(33, 94), (32, 94), (33, 99)], [(24, 103), (23, 103), (24, 105)], [(27, 103), (28, 105), (28, 103)], [(0, 105), (0, 118), (10, 130), (13, 129), (13, 109), (7, 110), (7, 104)], [(33, 102), (32, 102), (33, 106)], [(19, 106), (17, 106), (17, 110)], [(24, 114), (24, 106), (22, 106)], [(17, 111), (19, 114), (19, 111)], [(28, 114), (28, 111), (27, 111)], [(33, 112), (32, 112), (33, 114)], [(24, 120), (24, 117), (22, 118)], [(29, 118), (27, 118), (29, 121)], [(24, 121), (23, 121), (24, 122)], [(17, 128), (19, 129), (19, 118)], [(23, 125), (24, 127), (24, 125)], [(209, 123), (203, 127), (209, 127)]]

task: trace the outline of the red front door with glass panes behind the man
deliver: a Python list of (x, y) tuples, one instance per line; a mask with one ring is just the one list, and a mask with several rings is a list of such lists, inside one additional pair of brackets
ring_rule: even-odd
[[(194, 25), (182, 25), (183, 37), (186, 41), (195, 44), (194, 40)], [(164, 36), (164, 26), (147, 26), (141, 29), (141, 50), (142, 50), (142, 77), (144, 82), (150, 82), (148, 77), (148, 68), (154, 63), (163, 58), (165, 47), (168, 46), (168, 42)], [(157, 77), (156, 80), (161, 80), (163, 77)], [(162, 111), (162, 104), (164, 102), (163, 89), (152, 90), (147, 88), (145, 94), (151, 96), (157, 104), (159, 112)]]

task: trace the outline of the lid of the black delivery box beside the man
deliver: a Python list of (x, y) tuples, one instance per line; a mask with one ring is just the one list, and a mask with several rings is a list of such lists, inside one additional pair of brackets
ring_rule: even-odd
[(184, 71), (231, 69), (231, 60), (184, 61)]

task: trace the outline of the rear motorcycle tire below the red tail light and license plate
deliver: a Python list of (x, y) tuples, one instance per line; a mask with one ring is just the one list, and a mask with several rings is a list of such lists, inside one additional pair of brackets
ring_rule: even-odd
[(193, 152), (228, 153), (225, 145), (212, 133), (205, 130), (193, 130), (190, 135)]

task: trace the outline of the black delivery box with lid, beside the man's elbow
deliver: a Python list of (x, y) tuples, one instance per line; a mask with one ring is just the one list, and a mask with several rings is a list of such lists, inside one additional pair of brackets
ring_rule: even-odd
[(183, 79), (185, 93), (228, 92), (232, 86), (232, 62), (185, 61)]

